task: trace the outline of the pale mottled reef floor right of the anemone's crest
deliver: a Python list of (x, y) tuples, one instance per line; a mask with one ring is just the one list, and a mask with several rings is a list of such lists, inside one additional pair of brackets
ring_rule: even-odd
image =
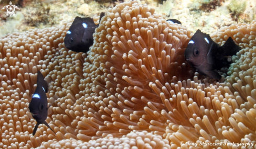
[[(208, 4), (206, 2), (211, 3)], [(148, 5), (149, 7), (154, 7), (155, 12), (162, 15), (164, 19), (173, 18), (180, 20), (182, 24), (190, 28), (191, 32), (201, 29), (203, 32), (211, 34), (221, 27), (230, 26), (232, 23), (250, 23), (256, 19), (256, 1), (246, 1), (246, 10), (239, 15), (238, 19), (232, 17), (232, 12), (229, 10), (230, 2), (231, 0), (226, 0), (225, 2), (213, 0), (167, 0), (163, 2), (163, 5), (159, 5), (159, 7), (155, 7), (153, 4)], [(218, 6), (219, 4), (220, 6)], [(215, 10), (213, 9), (214, 7)]]

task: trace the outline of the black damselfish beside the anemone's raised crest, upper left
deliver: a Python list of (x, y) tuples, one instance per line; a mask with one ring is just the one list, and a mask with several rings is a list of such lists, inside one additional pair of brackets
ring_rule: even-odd
[[(101, 13), (99, 22), (105, 13)], [(65, 47), (74, 52), (89, 51), (89, 47), (93, 45), (93, 33), (99, 24), (95, 25), (93, 18), (75, 17), (70, 29), (66, 32), (64, 39)]]

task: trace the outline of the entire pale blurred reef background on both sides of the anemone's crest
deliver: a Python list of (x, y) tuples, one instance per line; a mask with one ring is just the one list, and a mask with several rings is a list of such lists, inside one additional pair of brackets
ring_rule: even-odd
[[(10, 1), (0, 1), (0, 7)], [(6, 10), (0, 11), (0, 36), (12, 32), (24, 32), (33, 28), (45, 28), (73, 20), (76, 16), (99, 16), (108, 8), (126, 1), (112, 0), (71, 0), (71, 1), (31, 1), (15, 0), (17, 5), (15, 17), (6, 17)], [(201, 29), (213, 33), (220, 27), (232, 23), (249, 23), (256, 17), (256, 2), (253, 0), (146, 0), (138, 1), (154, 7), (155, 13), (164, 19), (177, 19), (192, 32)]]

